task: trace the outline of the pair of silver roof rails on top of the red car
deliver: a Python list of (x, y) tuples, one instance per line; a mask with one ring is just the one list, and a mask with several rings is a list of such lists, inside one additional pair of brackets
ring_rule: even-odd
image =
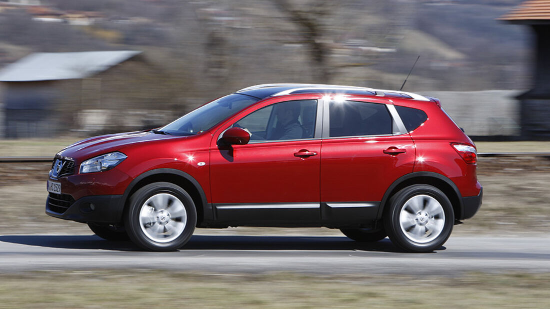
[(287, 95), (287, 94), (291, 94), (295, 91), (300, 91), (300, 90), (316, 90), (316, 89), (319, 89), (319, 88), (323, 88), (323, 89), (327, 89), (327, 90), (355, 90), (355, 91), (362, 90), (362, 91), (370, 91), (370, 92), (375, 92), (376, 95), (379, 95), (381, 97), (383, 97), (384, 92), (399, 93), (399, 94), (408, 95), (409, 97), (411, 97), (414, 100), (430, 101), (429, 98), (427, 98), (423, 95), (420, 95), (420, 94), (412, 93), (412, 92), (405, 92), (405, 91), (398, 91), (398, 90), (382, 90), (382, 89), (374, 89), (374, 88), (368, 88), (368, 87), (341, 86), (341, 85), (322, 85), (322, 84), (309, 84), (309, 83), (267, 83), (267, 84), (262, 84), (262, 85), (255, 85), (255, 86), (246, 87), (246, 88), (240, 89), (237, 92), (247, 91), (247, 90), (254, 90), (254, 89), (261, 89), (261, 88), (270, 88), (270, 87), (296, 87), (296, 88), (287, 89), (285, 91), (281, 91), (281, 92), (278, 92), (276, 94), (273, 94), (272, 97)]

